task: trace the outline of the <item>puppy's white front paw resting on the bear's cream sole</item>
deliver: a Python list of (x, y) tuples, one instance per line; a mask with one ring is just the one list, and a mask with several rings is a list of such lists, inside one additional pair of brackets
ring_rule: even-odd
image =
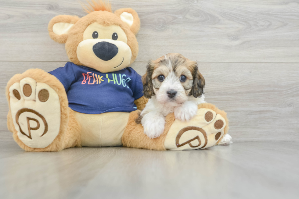
[(189, 121), (197, 113), (197, 105), (191, 101), (186, 101), (182, 106), (175, 107), (175, 118), (183, 121)]

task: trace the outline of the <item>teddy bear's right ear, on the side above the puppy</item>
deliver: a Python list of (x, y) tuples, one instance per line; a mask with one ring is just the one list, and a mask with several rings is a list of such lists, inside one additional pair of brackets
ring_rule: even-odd
[(114, 12), (121, 20), (126, 23), (133, 34), (137, 34), (140, 29), (140, 20), (137, 12), (131, 8), (122, 8)]

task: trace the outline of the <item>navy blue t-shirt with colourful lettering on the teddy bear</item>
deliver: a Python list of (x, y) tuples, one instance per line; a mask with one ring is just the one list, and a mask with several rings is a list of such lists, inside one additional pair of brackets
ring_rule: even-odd
[(101, 73), (67, 62), (49, 73), (63, 84), (69, 107), (81, 113), (132, 112), (134, 100), (143, 96), (141, 76), (131, 67)]

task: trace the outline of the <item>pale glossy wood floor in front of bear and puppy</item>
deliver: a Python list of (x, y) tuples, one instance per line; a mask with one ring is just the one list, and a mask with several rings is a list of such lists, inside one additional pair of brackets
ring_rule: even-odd
[(25, 152), (0, 145), (1, 198), (297, 198), (298, 142), (196, 151), (84, 147)]

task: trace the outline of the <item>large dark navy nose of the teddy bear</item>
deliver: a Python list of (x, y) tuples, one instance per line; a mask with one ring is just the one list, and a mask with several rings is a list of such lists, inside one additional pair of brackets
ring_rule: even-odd
[(92, 50), (98, 58), (104, 61), (112, 59), (118, 53), (117, 46), (106, 41), (94, 44)]

